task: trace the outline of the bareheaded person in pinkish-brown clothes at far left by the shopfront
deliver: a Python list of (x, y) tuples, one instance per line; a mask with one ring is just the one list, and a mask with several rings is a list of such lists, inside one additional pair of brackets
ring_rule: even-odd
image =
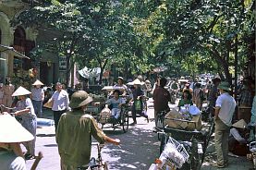
[(12, 93), (14, 92), (15, 87), (11, 84), (11, 81), (9, 78), (6, 78), (6, 85), (3, 87), (4, 96), (3, 96), (3, 104), (6, 107), (11, 107), (13, 98)]

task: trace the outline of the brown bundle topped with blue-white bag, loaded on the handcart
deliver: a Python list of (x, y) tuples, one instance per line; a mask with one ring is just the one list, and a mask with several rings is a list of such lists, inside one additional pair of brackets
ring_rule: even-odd
[(184, 130), (200, 130), (201, 129), (201, 113), (200, 110), (191, 105), (189, 107), (184, 107), (177, 112), (176, 109), (170, 110), (168, 114), (165, 115), (165, 126), (169, 128), (178, 128)]

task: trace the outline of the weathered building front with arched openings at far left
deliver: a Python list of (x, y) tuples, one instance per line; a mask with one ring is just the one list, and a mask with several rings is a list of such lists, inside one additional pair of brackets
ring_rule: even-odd
[[(30, 56), (30, 51), (37, 42), (45, 41), (45, 32), (22, 26), (12, 27), (10, 22), (21, 12), (30, 9), (31, 2), (0, 1), (0, 44), (12, 46), (16, 51), (27, 56)], [(0, 60), (0, 81), (2, 82), (5, 82), (6, 77), (17, 85), (24, 85), (28, 80), (33, 79), (41, 79), (46, 85), (58, 80), (59, 63), (58, 56), (54, 52), (43, 52), (42, 56), (33, 59), (18, 58), (6, 53), (0, 53), (0, 56), (6, 59)], [(33, 77), (30, 77), (30, 70), (35, 73)]]

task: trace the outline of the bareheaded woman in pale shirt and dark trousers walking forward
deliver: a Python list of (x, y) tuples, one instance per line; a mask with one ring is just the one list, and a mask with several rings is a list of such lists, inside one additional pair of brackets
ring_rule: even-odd
[(59, 118), (62, 114), (67, 112), (69, 98), (67, 91), (63, 90), (63, 85), (60, 82), (55, 84), (55, 93), (51, 97), (50, 101), (52, 101), (53, 106), (52, 110), (54, 112), (54, 119), (55, 119), (55, 131), (58, 126)]

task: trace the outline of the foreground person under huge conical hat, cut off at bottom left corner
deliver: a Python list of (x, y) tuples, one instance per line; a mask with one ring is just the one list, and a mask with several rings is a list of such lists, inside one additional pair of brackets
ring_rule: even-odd
[(26, 170), (26, 163), (19, 143), (33, 139), (30, 132), (23, 128), (15, 117), (7, 113), (0, 113), (0, 169)]

